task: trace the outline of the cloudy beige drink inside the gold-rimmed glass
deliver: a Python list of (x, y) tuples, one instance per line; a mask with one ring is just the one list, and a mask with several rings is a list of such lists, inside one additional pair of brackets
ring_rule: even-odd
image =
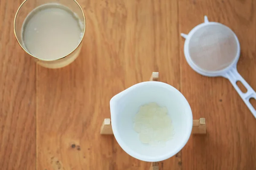
[(58, 59), (72, 52), (83, 36), (81, 20), (56, 3), (35, 8), (25, 19), (22, 40), (26, 50), (41, 59)]

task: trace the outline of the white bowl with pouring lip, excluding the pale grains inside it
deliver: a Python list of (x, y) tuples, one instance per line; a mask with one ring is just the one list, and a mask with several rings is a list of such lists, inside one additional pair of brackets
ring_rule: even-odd
[[(174, 136), (165, 147), (143, 144), (134, 130), (133, 118), (141, 105), (156, 102), (168, 109)], [(192, 131), (192, 111), (176, 88), (163, 82), (142, 82), (114, 96), (110, 101), (113, 134), (122, 149), (142, 161), (163, 161), (174, 156), (186, 144)]]

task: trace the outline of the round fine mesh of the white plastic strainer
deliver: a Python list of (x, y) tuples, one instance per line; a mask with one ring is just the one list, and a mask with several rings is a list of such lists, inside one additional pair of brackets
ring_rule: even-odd
[(192, 34), (189, 41), (192, 61), (204, 71), (220, 71), (236, 58), (235, 35), (224, 25), (207, 25)]

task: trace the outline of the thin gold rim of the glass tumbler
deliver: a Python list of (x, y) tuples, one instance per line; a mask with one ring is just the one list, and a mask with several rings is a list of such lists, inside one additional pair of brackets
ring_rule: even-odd
[(33, 55), (33, 54), (31, 54), (29, 51), (27, 51), (25, 48), (23, 48), (23, 46), (21, 45), (20, 41), (19, 41), (18, 38), (17, 38), (16, 28), (15, 28), (15, 26), (16, 26), (16, 20), (17, 20), (17, 14), (18, 14), (18, 12), (20, 11), (21, 7), (24, 5), (24, 3), (26, 3), (26, 1), (28, 1), (28, 0), (24, 0), (23, 3), (21, 3), (20, 7), (18, 8), (18, 10), (17, 10), (17, 12), (16, 12), (16, 14), (15, 14), (14, 24), (13, 24), (13, 26), (14, 26), (14, 34), (15, 34), (16, 40), (17, 40), (17, 42), (19, 43), (20, 47), (21, 47), (27, 54), (29, 54), (30, 56), (35, 57), (36, 59), (39, 59), (39, 60), (42, 60), (42, 61), (56, 61), (56, 60), (59, 60), (59, 59), (63, 59), (63, 58), (65, 58), (65, 57), (68, 57), (70, 54), (72, 54), (73, 52), (75, 52), (76, 49), (79, 47), (79, 45), (81, 45), (81, 42), (82, 42), (83, 39), (84, 39), (84, 34), (85, 34), (85, 29), (86, 29), (86, 19), (85, 19), (84, 11), (83, 11), (82, 7), (79, 5), (79, 3), (78, 3), (76, 0), (73, 0), (73, 1), (79, 6), (79, 8), (80, 8), (80, 10), (81, 10), (81, 12), (82, 12), (82, 14), (83, 14), (83, 17), (84, 17), (84, 31), (83, 31), (83, 35), (82, 35), (82, 37), (81, 37), (80, 42), (78, 43), (78, 45), (76, 46), (76, 48), (73, 49), (73, 51), (71, 51), (69, 54), (67, 54), (67, 55), (65, 55), (65, 56), (63, 56), (63, 57), (59, 57), (59, 58), (56, 58), (56, 59), (42, 59), (42, 58), (36, 57), (35, 55)]

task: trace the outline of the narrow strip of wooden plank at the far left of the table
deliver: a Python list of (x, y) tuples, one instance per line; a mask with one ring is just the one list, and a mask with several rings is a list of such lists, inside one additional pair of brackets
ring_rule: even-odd
[(20, 4), (0, 1), (0, 169), (35, 170), (35, 62), (13, 34)]

